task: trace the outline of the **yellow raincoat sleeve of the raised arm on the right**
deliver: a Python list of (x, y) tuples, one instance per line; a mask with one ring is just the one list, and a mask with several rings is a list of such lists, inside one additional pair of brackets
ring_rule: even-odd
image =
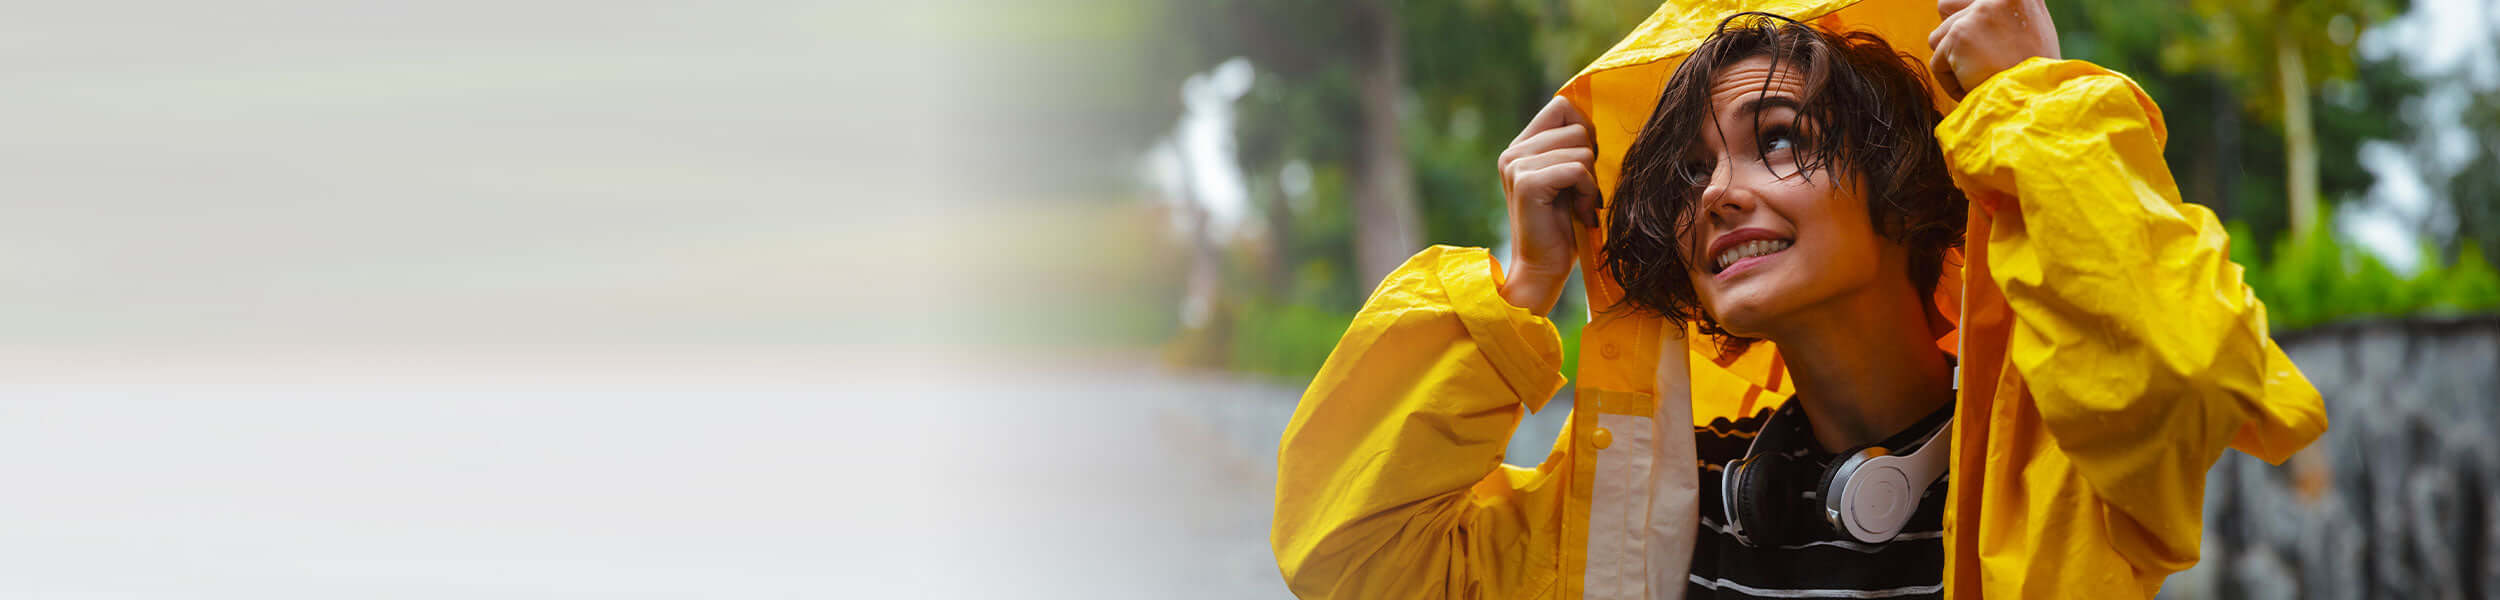
[(2158, 572), (2195, 565), (2222, 448), (2282, 462), (2325, 432), (2222, 225), (2180, 202), (2165, 138), (2125, 75), (2040, 58), (1938, 125), (1955, 182), (1995, 220), (1970, 242), (2015, 315), (2008, 362), (2112, 510), (2120, 552)]

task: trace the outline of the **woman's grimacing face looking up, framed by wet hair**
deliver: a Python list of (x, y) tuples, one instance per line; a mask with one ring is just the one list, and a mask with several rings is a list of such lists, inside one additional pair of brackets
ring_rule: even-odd
[[(1768, 82), (1768, 85), (1765, 85)], [(1710, 78), (1710, 118), (1695, 165), (1710, 172), (1682, 235), (1702, 308), (1732, 335), (1778, 340), (1802, 315), (1908, 280), (1908, 250), (1875, 232), (1865, 198), (1835, 172), (1800, 172), (1815, 122), (1792, 65), (1748, 58)], [(1715, 125), (1715, 128), (1712, 128)], [(1832, 162), (1825, 162), (1832, 165)]]

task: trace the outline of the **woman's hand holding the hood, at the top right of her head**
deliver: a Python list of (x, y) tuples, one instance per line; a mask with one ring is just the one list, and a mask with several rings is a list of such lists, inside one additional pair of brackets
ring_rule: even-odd
[(1935, 12), (1945, 22), (1928, 32), (1928, 72), (1952, 100), (2025, 58), (2060, 58), (2058, 22), (2040, 0), (1938, 0)]

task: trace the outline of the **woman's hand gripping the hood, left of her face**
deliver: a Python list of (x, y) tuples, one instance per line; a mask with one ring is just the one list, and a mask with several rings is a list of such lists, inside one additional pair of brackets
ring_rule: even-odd
[(1572, 218), (1598, 225), (1598, 140), (1580, 110), (1558, 95), (1528, 120), (1495, 165), (1510, 202), (1502, 300), (1545, 315), (1562, 298), (1578, 258), (1580, 230)]

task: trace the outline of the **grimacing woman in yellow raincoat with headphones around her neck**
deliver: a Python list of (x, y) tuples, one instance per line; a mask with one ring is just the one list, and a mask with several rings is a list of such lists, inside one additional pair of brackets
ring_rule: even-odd
[[(2150, 598), (2192, 565), (2205, 468), (2308, 445), (2318, 392), (2178, 200), (2158, 108), (2055, 60), (2035, 0), (1938, 8), (1925, 68), (1840, 8), (1662, 8), (1625, 48), (1702, 42), (1648, 52), (1682, 62), (1628, 145), (1565, 100), (1618, 82), (1565, 88), (1500, 158), (1508, 270), (1420, 252), (1288, 425), (1292, 590)], [(1970, 98), (1940, 115), (1920, 72)], [(1540, 315), (1575, 262), (1570, 428), (1502, 468), (1562, 385)]]

